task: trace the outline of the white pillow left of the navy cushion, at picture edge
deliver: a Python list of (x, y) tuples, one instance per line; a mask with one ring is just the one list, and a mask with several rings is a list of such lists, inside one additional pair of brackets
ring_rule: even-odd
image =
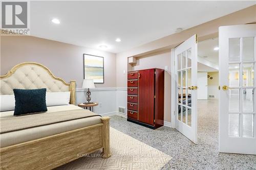
[(14, 110), (15, 108), (15, 98), (14, 94), (10, 95), (0, 95), (0, 111)]

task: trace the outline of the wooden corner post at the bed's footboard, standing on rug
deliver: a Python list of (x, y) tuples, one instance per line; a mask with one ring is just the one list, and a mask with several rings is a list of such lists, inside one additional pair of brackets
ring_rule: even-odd
[(110, 117), (101, 117), (103, 123), (103, 149), (102, 158), (109, 158), (110, 154)]

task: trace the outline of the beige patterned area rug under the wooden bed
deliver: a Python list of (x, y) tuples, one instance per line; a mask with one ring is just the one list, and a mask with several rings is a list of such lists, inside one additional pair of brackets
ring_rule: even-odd
[(101, 151), (82, 157), (56, 169), (160, 169), (171, 156), (110, 127), (112, 156), (102, 159)]

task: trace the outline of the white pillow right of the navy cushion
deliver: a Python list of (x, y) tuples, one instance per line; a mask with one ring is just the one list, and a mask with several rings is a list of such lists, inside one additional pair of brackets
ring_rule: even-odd
[(46, 92), (46, 106), (69, 105), (70, 91)]

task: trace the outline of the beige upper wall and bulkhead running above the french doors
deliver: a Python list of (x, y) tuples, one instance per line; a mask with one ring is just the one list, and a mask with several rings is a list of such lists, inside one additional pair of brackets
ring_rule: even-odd
[(163, 49), (166, 50), (166, 48), (174, 48), (177, 44), (185, 41), (194, 34), (198, 35), (199, 41), (218, 37), (218, 29), (221, 26), (255, 22), (255, 11), (256, 5), (117, 54), (117, 87), (126, 87), (126, 75), (124, 76), (121, 73), (123, 69), (127, 71), (127, 57), (144, 56), (148, 53), (155, 53)]

